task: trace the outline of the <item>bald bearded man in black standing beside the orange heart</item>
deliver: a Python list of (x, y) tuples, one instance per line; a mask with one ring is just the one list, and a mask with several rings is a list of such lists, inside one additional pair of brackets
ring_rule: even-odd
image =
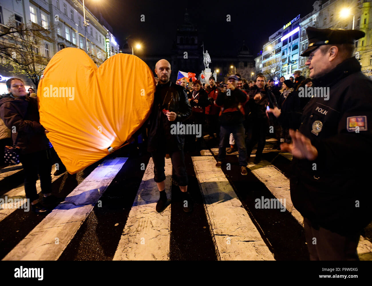
[[(183, 210), (190, 212), (193, 208), (193, 200), (187, 191), (188, 179), (183, 153), (185, 135), (178, 134), (180, 132), (174, 126), (177, 126), (177, 123), (182, 124), (182, 121), (189, 118), (192, 109), (185, 88), (171, 82), (170, 73), (170, 63), (167, 60), (161, 59), (156, 63), (155, 74), (158, 76), (159, 82), (156, 86), (153, 110), (150, 115), (147, 150), (151, 152), (153, 157), (154, 181), (160, 193), (156, 211), (162, 212), (167, 207), (164, 157), (169, 154), (173, 165), (173, 175), (176, 175), (176, 183), (182, 191)], [(173, 132), (175, 129), (176, 134)]]

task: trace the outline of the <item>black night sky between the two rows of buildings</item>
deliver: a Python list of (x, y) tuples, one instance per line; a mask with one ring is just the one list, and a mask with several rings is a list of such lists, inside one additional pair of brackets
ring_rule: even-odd
[[(203, 1), (203, 4), (196, 4), (197, 1), (86, 0), (85, 4), (88, 8), (98, 7), (113, 27), (113, 35), (120, 46), (130, 36), (142, 43), (142, 52), (147, 55), (170, 55), (177, 24), (183, 23), (187, 8), (199, 31), (199, 42), (204, 42), (213, 60), (214, 55), (236, 56), (243, 40), (256, 56), (269, 36), (281, 26), (298, 14), (304, 17), (312, 12), (314, 1), (291, 1), (292, 9), (288, 8), (288, 1), (271, 0)], [(145, 15), (145, 22), (141, 22), (141, 14)], [(227, 14), (231, 15), (231, 22), (226, 21)]]

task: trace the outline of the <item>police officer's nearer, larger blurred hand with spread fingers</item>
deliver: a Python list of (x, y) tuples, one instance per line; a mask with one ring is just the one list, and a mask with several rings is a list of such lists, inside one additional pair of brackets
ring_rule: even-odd
[(298, 159), (315, 160), (318, 157), (318, 150), (312, 146), (310, 139), (305, 137), (298, 130), (289, 129), (289, 136), (292, 143), (280, 144), (280, 149), (292, 153)]

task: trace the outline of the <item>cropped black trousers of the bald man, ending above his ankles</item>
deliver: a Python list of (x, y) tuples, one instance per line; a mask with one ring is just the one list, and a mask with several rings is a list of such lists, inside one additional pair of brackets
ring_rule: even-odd
[[(154, 181), (157, 183), (163, 182), (165, 180), (164, 166), (165, 166), (165, 153), (157, 152), (151, 153), (154, 161)], [(169, 154), (173, 170), (175, 172), (179, 186), (187, 186), (189, 184), (186, 166), (185, 166), (185, 156), (183, 150), (177, 150)]]

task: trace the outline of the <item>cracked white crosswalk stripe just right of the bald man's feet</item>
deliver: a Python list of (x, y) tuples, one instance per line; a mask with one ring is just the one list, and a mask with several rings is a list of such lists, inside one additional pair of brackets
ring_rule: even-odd
[(192, 157), (220, 260), (274, 260), (234, 189), (212, 157)]

